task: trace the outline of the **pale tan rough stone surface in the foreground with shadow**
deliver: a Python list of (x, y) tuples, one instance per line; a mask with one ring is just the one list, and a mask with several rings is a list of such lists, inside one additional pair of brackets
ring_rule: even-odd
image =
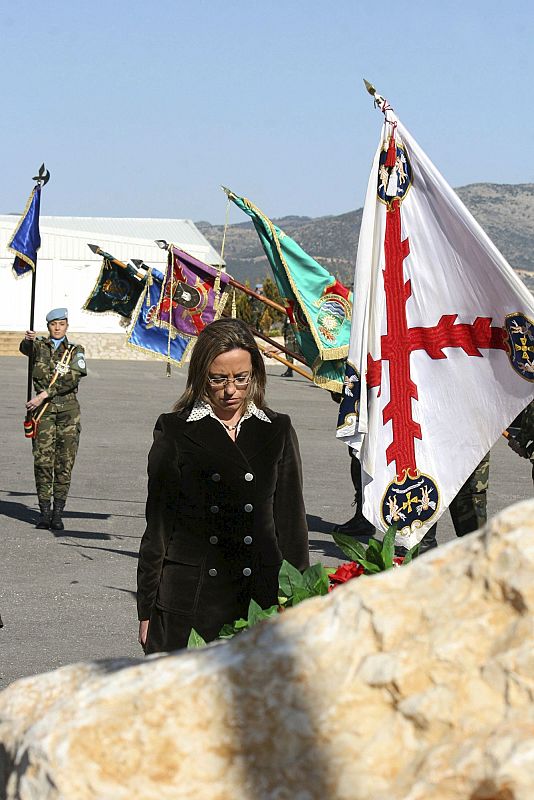
[(534, 500), (229, 643), (0, 694), (7, 800), (532, 800)]

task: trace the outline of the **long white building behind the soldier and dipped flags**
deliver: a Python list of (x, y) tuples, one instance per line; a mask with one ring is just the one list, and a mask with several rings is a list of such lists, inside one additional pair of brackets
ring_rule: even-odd
[[(19, 219), (14, 214), (0, 215), (0, 331), (24, 331), (29, 325), (31, 274), (15, 278), (14, 254), (7, 249)], [(207, 264), (220, 264), (220, 256), (188, 219), (41, 216), (40, 232), (34, 325), (38, 331), (45, 330), (45, 315), (51, 308), (65, 306), (71, 331), (124, 334), (116, 314), (92, 314), (82, 308), (102, 264), (102, 257), (88, 243), (120, 261), (139, 258), (161, 271), (167, 253), (155, 239), (172, 242)]]

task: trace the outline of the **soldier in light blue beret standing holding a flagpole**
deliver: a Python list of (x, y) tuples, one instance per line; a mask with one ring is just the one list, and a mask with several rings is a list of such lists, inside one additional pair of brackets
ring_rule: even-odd
[(80, 405), (76, 393), (80, 378), (87, 375), (83, 347), (67, 339), (67, 317), (66, 308), (53, 309), (46, 315), (49, 337), (26, 331), (20, 343), (21, 353), (29, 356), (33, 342), (32, 378), (36, 395), (26, 403), (26, 409), (37, 416), (44, 406), (32, 442), (41, 510), (37, 527), (58, 531), (64, 530), (63, 509), (80, 439)]

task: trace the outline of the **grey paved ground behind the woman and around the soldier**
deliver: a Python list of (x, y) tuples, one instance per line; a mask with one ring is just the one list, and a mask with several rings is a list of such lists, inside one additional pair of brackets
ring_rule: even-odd
[[(336, 442), (336, 406), (304, 378), (268, 367), (269, 404), (288, 412), (301, 443), (312, 557), (335, 563), (328, 531), (351, 516), (346, 448)], [(22, 420), (26, 360), (0, 358), (0, 689), (69, 662), (140, 656), (135, 570), (144, 528), (146, 456), (158, 414), (185, 385), (162, 362), (93, 361), (80, 390), (82, 439), (61, 534), (37, 531), (31, 444)], [(530, 497), (528, 462), (503, 441), (492, 453), (489, 510)], [(452, 538), (449, 514), (439, 541)]]

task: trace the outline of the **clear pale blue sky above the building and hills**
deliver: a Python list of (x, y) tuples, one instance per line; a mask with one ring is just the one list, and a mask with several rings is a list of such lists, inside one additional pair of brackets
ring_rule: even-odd
[[(527, 0), (0, 2), (0, 212), (222, 222), (363, 203), (381, 115), (453, 186), (534, 181)], [(231, 222), (242, 221), (232, 209)]]

